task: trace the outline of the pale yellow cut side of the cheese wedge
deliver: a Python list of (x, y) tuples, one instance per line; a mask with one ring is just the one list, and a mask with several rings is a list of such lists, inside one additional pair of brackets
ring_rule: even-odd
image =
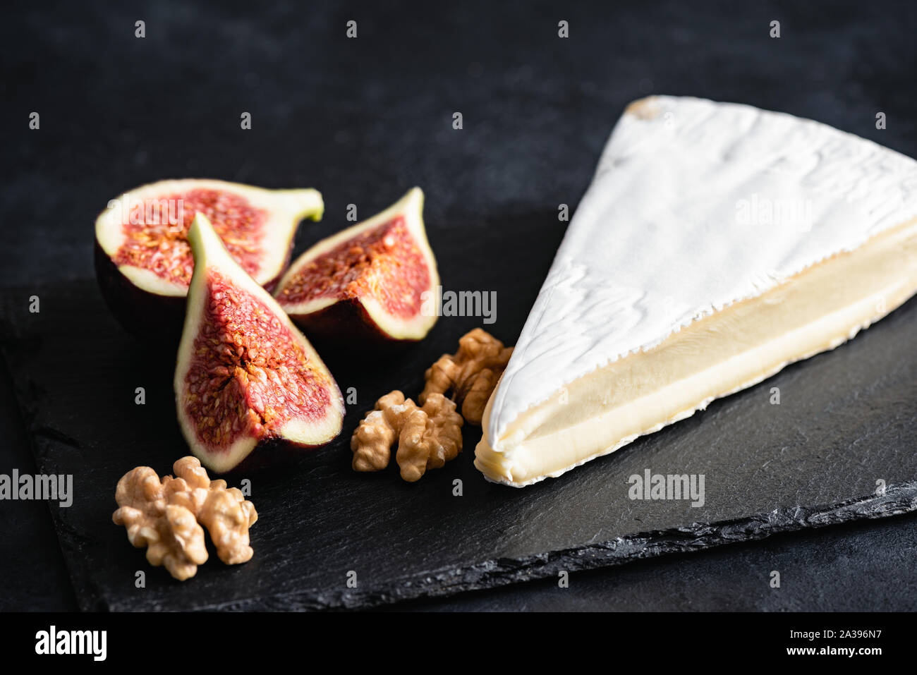
[[(519, 415), (493, 447), (485, 433), (475, 466), (492, 481), (520, 487), (558, 476), (834, 349), (915, 292), (912, 220), (570, 382)], [(490, 404), (485, 430), (489, 420)]]

